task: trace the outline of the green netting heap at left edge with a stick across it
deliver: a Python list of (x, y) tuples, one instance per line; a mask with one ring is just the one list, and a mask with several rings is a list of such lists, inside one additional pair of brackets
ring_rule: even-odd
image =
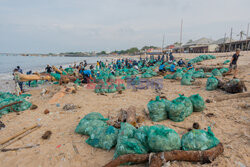
[(29, 109), (32, 104), (28, 102), (27, 100), (25, 100), (27, 96), (31, 96), (31, 95), (23, 94), (20, 96), (16, 96), (9, 92), (0, 92), (0, 108), (5, 105), (14, 103), (14, 102), (22, 101), (22, 103), (15, 104), (9, 107), (5, 107), (4, 109), (0, 110), (0, 118), (2, 115), (7, 114), (9, 112), (24, 111), (24, 110)]

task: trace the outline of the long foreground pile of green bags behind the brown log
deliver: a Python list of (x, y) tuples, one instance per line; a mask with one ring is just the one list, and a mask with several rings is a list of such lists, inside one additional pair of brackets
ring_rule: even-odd
[[(88, 135), (86, 143), (105, 150), (115, 147), (114, 159), (125, 154), (146, 154), (172, 150), (207, 150), (219, 144), (211, 128), (208, 131), (193, 129), (180, 138), (179, 134), (164, 125), (141, 126), (129, 123), (121, 128), (109, 126), (100, 113), (86, 115), (75, 132)], [(131, 164), (131, 163), (128, 163)]]

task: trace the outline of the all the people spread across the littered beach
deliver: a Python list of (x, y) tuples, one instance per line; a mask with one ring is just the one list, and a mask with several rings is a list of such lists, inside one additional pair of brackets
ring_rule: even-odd
[[(234, 71), (234, 78), (236, 77), (237, 74), (237, 61), (240, 56), (240, 49), (236, 50), (236, 53), (232, 56), (232, 59), (229, 64), (229, 71), (228, 73), (231, 73)], [(139, 69), (138, 64), (140, 63), (141, 67), (149, 67), (153, 66), (157, 62), (162, 62), (161, 65), (159, 66), (159, 71), (166, 71), (166, 66), (165, 62), (168, 62), (171, 64), (169, 71), (170, 72), (175, 72), (177, 70), (177, 66), (179, 67), (186, 67), (188, 70), (194, 68), (191, 63), (185, 63), (183, 59), (179, 59), (177, 62), (174, 59), (174, 56), (172, 53), (168, 55), (162, 55), (158, 56), (157, 58), (154, 58), (154, 56), (150, 56), (150, 58), (142, 58), (140, 57), (139, 60), (136, 59), (131, 59), (131, 58), (120, 58), (120, 59), (112, 59), (110, 62), (108, 60), (106, 61), (97, 61), (96, 63), (96, 69), (104, 69), (104, 68), (109, 68), (110, 72), (112, 74), (115, 74), (115, 71), (117, 69), (123, 69), (123, 68), (134, 68), (136, 70)], [(93, 77), (93, 70), (94, 70), (94, 65), (91, 64), (88, 68), (88, 63), (86, 60), (84, 62), (80, 62), (79, 65), (76, 65), (76, 63), (73, 66), (69, 66), (70, 68), (74, 69), (74, 75), (76, 78), (80, 78), (82, 83), (87, 83), (89, 79)], [(64, 71), (63, 67), (60, 66), (59, 70)], [(45, 68), (45, 71), (48, 74), (51, 74), (54, 70), (50, 65), (47, 65)], [(55, 71), (58, 73), (57, 71)], [(20, 94), (23, 92), (23, 82), (20, 81), (19, 75), (18, 74), (23, 74), (23, 70), (20, 68), (20, 66), (17, 66), (14, 71), (14, 80), (15, 80), (15, 85), (16, 85), (16, 92), (17, 94)], [(32, 74), (32, 71), (28, 71), (26, 73), (27, 75)], [(98, 74), (97, 74), (98, 75)]]

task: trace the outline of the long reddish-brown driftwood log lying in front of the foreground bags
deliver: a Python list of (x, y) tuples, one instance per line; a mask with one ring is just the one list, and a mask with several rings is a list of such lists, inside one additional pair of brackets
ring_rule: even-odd
[[(183, 151), (175, 150), (154, 154), (151, 157), (150, 167), (161, 167), (163, 162), (167, 161), (188, 161), (210, 163), (224, 151), (223, 145), (220, 143), (216, 147), (204, 151)], [(116, 167), (124, 163), (145, 163), (148, 162), (150, 154), (128, 154), (122, 155), (112, 160), (104, 167)]]

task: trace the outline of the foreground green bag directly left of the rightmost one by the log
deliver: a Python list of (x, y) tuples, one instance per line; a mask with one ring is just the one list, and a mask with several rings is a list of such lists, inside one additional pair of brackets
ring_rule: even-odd
[(178, 133), (166, 126), (150, 126), (147, 136), (151, 152), (180, 150), (181, 148), (181, 139)]

